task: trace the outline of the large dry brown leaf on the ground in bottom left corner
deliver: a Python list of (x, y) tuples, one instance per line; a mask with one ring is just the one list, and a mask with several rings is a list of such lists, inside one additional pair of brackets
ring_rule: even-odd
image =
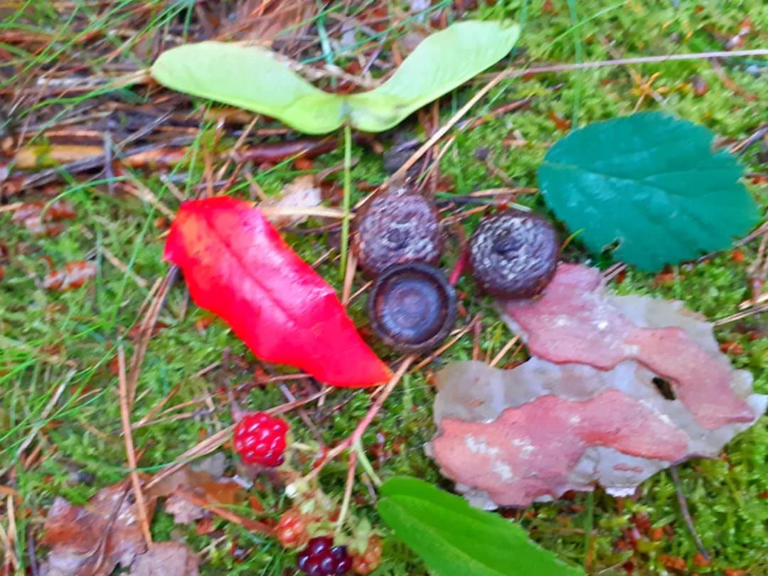
[[(154, 498), (147, 498), (147, 514)], [(128, 482), (103, 488), (85, 506), (56, 498), (48, 511), (41, 544), (51, 547), (42, 576), (108, 576), (127, 568), (147, 550)]]

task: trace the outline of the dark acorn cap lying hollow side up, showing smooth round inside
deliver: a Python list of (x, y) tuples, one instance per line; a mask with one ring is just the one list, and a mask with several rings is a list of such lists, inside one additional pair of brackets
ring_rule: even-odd
[(388, 346), (409, 354), (435, 349), (456, 322), (456, 295), (445, 275), (429, 264), (390, 266), (368, 299), (371, 326)]

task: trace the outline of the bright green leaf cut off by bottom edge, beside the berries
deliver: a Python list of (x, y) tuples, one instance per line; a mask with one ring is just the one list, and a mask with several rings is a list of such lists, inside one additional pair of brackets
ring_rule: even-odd
[(382, 485), (379, 515), (435, 576), (576, 576), (519, 525), (417, 478)]

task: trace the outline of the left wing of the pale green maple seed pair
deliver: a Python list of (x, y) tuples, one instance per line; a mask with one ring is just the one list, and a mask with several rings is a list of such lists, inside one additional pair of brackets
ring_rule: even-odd
[(315, 88), (272, 52), (205, 41), (160, 55), (152, 76), (168, 88), (276, 118), (307, 134), (343, 123), (343, 99)]

